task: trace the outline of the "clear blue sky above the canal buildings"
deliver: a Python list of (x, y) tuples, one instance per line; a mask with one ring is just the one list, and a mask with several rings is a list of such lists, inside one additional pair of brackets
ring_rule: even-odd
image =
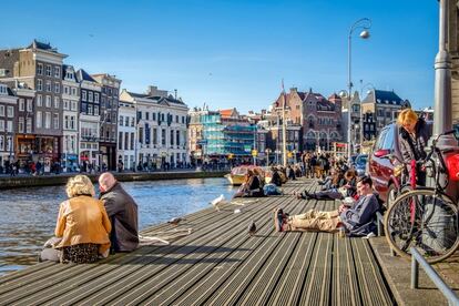
[(246, 113), (267, 109), (282, 80), (325, 96), (346, 89), (349, 30), (369, 18), (370, 38), (351, 35), (354, 90), (394, 90), (419, 109), (434, 105), (438, 14), (437, 0), (6, 1), (0, 49), (38, 39), (122, 89)]

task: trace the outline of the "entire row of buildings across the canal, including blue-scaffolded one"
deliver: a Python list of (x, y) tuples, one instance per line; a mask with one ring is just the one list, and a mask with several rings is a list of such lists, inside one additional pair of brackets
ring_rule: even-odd
[[(336, 93), (326, 98), (293, 88), (267, 111), (245, 115), (207, 105), (188, 110), (176, 91), (121, 90), (115, 75), (76, 70), (67, 58), (35, 40), (0, 50), (0, 166), (41, 162), (45, 171), (55, 163), (64, 171), (89, 171), (280, 161), (283, 122), (293, 160), (304, 150), (329, 151), (347, 142), (348, 101)], [(360, 102), (355, 92), (350, 141), (375, 137), (407, 102), (376, 89)]]

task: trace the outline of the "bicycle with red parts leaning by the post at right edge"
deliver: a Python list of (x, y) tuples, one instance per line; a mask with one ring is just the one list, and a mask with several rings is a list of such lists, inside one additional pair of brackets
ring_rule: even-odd
[[(404, 192), (386, 212), (386, 238), (391, 248), (407, 259), (410, 258), (410, 247), (415, 247), (429, 263), (449, 257), (459, 247), (458, 205), (445, 193), (450, 181), (459, 181), (459, 154), (449, 154), (445, 160), (443, 154), (452, 150), (437, 147), (440, 136), (453, 132), (448, 131), (434, 139), (429, 154), (421, 161), (432, 173), (429, 176), (435, 177), (435, 187), (417, 186)], [(437, 160), (432, 159), (434, 154)], [(445, 184), (440, 182), (441, 174), (445, 175)]]

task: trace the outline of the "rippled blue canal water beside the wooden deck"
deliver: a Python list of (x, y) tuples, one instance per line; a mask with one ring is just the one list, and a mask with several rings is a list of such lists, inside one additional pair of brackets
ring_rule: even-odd
[[(192, 178), (122, 183), (139, 205), (139, 227), (163, 223), (210, 206), (235, 188), (225, 178)], [(0, 192), (0, 275), (37, 263), (43, 243), (53, 235), (64, 186)]]

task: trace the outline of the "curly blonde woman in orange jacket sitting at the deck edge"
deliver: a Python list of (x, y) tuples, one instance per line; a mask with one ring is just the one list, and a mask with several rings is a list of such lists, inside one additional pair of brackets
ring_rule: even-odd
[(71, 177), (65, 191), (69, 200), (60, 205), (55, 237), (45, 244), (40, 261), (83, 264), (108, 257), (112, 226), (102, 201), (93, 198), (91, 180)]

